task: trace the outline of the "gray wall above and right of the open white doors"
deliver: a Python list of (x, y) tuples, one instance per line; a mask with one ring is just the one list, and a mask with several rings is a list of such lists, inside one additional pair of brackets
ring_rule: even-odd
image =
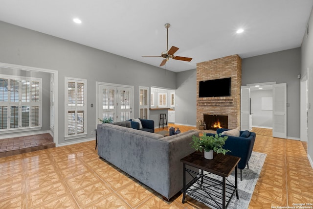
[(301, 50), (293, 48), (242, 60), (242, 85), (273, 82), (287, 83), (287, 137), (300, 138)]

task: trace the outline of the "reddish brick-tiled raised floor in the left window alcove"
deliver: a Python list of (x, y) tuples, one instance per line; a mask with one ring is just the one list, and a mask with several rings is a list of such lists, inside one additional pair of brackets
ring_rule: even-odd
[(0, 139), (0, 158), (55, 147), (50, 134)]

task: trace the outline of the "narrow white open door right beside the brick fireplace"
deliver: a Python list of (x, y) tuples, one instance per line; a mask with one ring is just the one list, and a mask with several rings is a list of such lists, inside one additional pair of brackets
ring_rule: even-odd
[(241, 87), (240, 130), (250, 130), (250, 88)]

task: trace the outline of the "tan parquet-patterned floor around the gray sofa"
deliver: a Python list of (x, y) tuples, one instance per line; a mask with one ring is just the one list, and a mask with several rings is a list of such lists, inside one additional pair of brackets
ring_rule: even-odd
[[(193, 127), (177, 126), (182, 132)], [(156, 130), (157, 131), (157, 130)], [(287, 207), (313, 203), (313, 169), (302, 142), (257, 133), (254, 151), (267, 159), (249, 208)], [(112, 164), (98, 158), (94, 141), (0, 158), (2, 209), (203, 209), (178, 194), (164, 201)]]

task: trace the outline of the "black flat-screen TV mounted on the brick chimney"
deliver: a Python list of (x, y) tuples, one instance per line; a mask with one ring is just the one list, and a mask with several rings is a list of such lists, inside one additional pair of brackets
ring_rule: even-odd
[(199, 97), (230, 96), (231, 78), (199, 82)]

